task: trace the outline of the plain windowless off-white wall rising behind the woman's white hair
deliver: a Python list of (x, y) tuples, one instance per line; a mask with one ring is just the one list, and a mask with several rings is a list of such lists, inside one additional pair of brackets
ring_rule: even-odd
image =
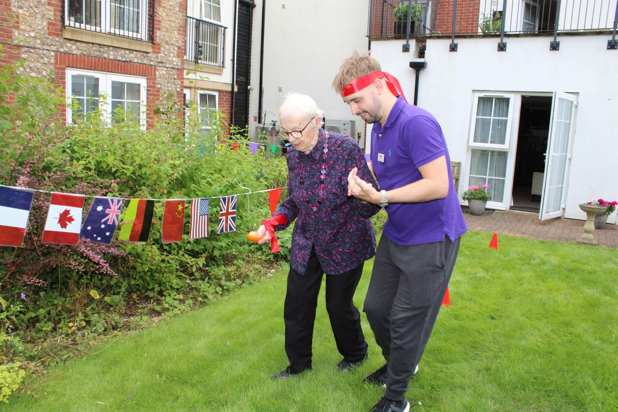
[[(315, 99), (327, 119), (356, 120), (355, 133), (361, 132), (363, 145), (365, 122), (352, 116), (331, 84), (345, 58), (354, 50), (367, 51), (368, 10), (368, 0), (266, 1), (262, 104), (262, 111), (270, 112), (266, 125), (271, 120), (278, 124), (277, 109), (287, 93), (305, 93)], [(258, 116), (262, 0), (256, 0), (253, 12), (252, 133), (256, 127), (253, 117)]]

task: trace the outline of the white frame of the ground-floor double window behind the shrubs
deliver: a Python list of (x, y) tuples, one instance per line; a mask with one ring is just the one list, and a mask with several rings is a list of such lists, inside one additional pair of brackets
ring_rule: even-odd
[(96, 77), (99, 79), (99, 95), (105, 97), (99, 99), (99, 109), (105, 113), (106, 120), (111, 122), (112, 107), (111, 107), (111, 90), (113, 82), (137, 83), (140, 85), (140, 125), (146, 127), (146, 78), (130, 75), (121, 75), (116, 73), (95, 72), (92, 70), (82, 69), (66, 69), (66, 93), (67, 93), (67, 124), (72, 124), (73, 114), (71, 111), (73, 104), (73, 96), (71, 94), (71, 77), (86, 76)]

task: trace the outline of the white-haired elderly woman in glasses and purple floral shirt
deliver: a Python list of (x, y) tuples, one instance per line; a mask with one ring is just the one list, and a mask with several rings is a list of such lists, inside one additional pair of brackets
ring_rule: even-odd
[[(380, 208), (348, 196), (347, 177), (356, 167), (361, 179), (376, 187), (377, 183), (362, 149), (352, 138), (320, 128), (322, 116), (306, 95), (288, 95), (279, 108), (279, 135), (292, 143), (287, 151), (289, 197), (265, 222), (287, 221), (274, 230), (286, 229), (294, 219), (296, 224), (283, 315), (290, 364), (273, 376), (275, 380), (311, 369), (313, 322), (324, 274), (326, 310), (337, 350), (344, 357), (336, 369), (349, 371), (367, 358), (352, 298), (363, 263), (375, 255), (371, 216)], [(261, 244), (271, 241), (265, 225), (258, 229), (261, 237)]]

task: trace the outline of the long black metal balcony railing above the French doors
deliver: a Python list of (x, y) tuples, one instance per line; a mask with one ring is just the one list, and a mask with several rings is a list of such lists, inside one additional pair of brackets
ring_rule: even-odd
[(616, 0), (370, 0), (369, 7), (370, 39), (612, 30), (618, 15)]

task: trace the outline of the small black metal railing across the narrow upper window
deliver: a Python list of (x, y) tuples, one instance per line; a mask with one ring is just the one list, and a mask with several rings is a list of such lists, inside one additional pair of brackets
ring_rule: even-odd
[(224, 67), (226, 61), (226, 28), (187, 16), (185, 26), (185, 60), (195, 64)]

